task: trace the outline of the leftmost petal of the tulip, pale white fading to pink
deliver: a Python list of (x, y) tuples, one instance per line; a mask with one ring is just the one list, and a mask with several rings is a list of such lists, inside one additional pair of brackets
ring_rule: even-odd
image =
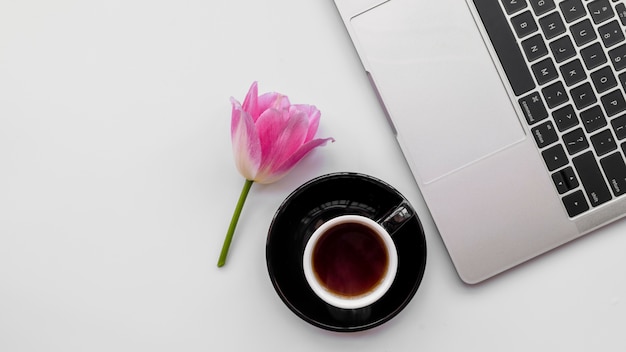
[(250, 114), (235, 99), (231, 99), (231, 102), (231, 141), (235, 165), (243, 177), (254, 180), (262, 160), (259, 134)]

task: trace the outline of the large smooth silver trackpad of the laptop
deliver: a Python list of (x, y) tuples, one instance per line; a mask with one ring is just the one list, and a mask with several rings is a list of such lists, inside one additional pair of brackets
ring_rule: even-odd
[(391, 0), (352, 19), (355, 43), (422, 182), (526, 138), (469, 8)]

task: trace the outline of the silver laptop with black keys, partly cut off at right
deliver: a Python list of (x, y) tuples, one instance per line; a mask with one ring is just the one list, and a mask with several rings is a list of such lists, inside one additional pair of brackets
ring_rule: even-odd
[(626, 212), (626, 8), (334, 0), (460, 278)]

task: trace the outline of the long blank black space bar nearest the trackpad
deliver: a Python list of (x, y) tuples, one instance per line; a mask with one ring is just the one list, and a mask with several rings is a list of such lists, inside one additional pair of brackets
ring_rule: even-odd
[(474, 0), (474, 4), (515, 95), (520, 96), (535, 88), (535, 81), (502, 9), (493, 6), (492, 0)]

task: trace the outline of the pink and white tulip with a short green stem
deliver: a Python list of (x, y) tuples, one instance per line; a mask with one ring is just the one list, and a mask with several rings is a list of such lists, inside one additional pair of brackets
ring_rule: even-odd
[(315, 106), (292, 105), (289, 98), (280, 93), (259, 96), (256, 82), (252, 83), (243, 105), (234, 98), (231, 103), (235, 164), (246, 182), (218, 266), (226, 262), (235, 226), (252, 184), (278, 181), (313, 149), (334, 141), (332, 138), (314, 139), (320, 121), (320, 111)]

